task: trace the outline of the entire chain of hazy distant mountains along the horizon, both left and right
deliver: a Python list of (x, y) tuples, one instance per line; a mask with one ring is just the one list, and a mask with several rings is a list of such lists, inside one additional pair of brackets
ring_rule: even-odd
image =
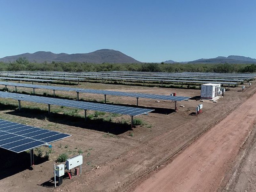
[[(23, 53), (20, 55), (7, 56), (0, 59), (3, 62), (13, 62), (20, 57), (25, 57), (30, 62), (52, 62), (52, 61), (61, 61), (61, 62), (85, 62), (85, 63), (141, 63), (138, 60), (133, 59), (132, 57), (125, 55), (120, 51), (113, 49), (100, 49), (90, 53), (52, 53), (45, 51), (38, 51), (35, 53)], [(173, 60), (166, 60), (164, 63), (178, 63)], [(256, 59), (244, 56), (235, 56), (230, 55), (228, 57), (216, 57), (211, 59), (198, 59), (194, 61), (186, 61), (179, 63), (256, 63)]]

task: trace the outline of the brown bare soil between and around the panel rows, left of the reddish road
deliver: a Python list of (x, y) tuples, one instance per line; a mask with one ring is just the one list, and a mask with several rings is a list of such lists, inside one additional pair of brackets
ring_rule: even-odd
[[(84, 83), (73, 86), (165, 95), (176, 92), (177, 95), (190, 97), (200, 95), (200, 90), (189, 89), (100, 83)], [(11, 87), (8, 88), (12, 90)], [(18, 90), (32, 92), (27, 88), (18, 88)], [(209, 100), (178, 102), (179, 110), (177, 112), (173, 110), (173, 102), (161, 100), (158, 103), (155, 100), (140, 98), (140, 107), (153, 108), (155, 112), (149, 113), (148, 116), (138, 116), (145, 124), (137, 125), (132, 129), (129, 116), (106, 114), (104, 118), (111, 118), (111, 121), (84, 122), (83, 111), (75, 111), (78, 116), (74, 117), (72, 113), (75, 112), (72, 109), (52, 107), (53, 113), (48, 116), (45, 105), (23, 102), (22, 110), (18, 111), (16, 101), (0, 99), (0, 103), (4, 103), (0, 105), (0, 118), (72, 135), (67, 139), (52, 143), (50, 160), (37, 158), (33, 170), (28, 169), (29, 154), (25, 152), (14, 154), (0, 150), (2, 156), (7, 157), (6, 160), (1, 159), (0, 162), (2, 173), (0, 189), (6, 192), (132, 191), (141, 182), (172, 162), (177, 154), (244, 103), (254, 94), (256, 87), (247, 87), (244, 92), (240, 90), (240, 87), (231, 88), (226, 92), (225, 97), (218, 100), (218, 103)], [(52, 94), (49, 90), (36, 90), (36, 93), (39, 95)], [(55, 94), (59, 97), (76, 98), (75, 92), (56, 91)], [(96, 94), (80, 94), (79, 97), (88, 101), (104, 100), (104, 95)], [(108, 103), (136, 107), (136, 98), (107, 96), (107, 100)], [(196, 106), (201, 103), (204, 105), (203, 113), (198, 116), (191, 115), (195, 112)], [(15, 106), (11, 104), (15, 104)], [(180, 105), (185, 107), (179, 107)], [(33, 107), (38, 109), (35, 110)], [(93, 115), (93, 112), (89, 114)], [(129, 124), (122, 123), (124, 121)], [(42, 147), (41, 150), (48, 149)], [(53, 164), (59, 164), (55, 162), (56, 158), (64, 152), (69, 157), (83, 152), (82, 174), (73, 176), (72, 180), (65, 178), (60, 187), (54, 188)]]

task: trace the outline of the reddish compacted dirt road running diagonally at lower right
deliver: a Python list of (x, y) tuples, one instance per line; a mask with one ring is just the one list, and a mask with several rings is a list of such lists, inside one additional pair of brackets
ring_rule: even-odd
[(253, 95), (134, 192), (216, 191), (253, 127), (255, 100)]

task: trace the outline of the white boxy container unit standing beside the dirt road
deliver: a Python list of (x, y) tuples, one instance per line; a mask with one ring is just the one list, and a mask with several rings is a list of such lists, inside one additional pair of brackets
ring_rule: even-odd
[(201, 98), (213, 99), (220, 95), (220, 84), (207, 83), (201, 86)]

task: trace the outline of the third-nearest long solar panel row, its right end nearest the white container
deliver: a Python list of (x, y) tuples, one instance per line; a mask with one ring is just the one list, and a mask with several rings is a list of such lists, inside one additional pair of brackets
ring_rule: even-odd
[(11, 82), (0, 82), (0, 84), (10, 85), (10, 86), (19, 86), (19, 87), (51, 89), (51, 90), (59, 90), (59, 91), (76, 91), (76, 92), (82, 92), (82, 93), (106, 94), (106, 95), (113, 95), (113, 96), (138, 97), (138, 98), (158, 99), (158, 100), (182, 101), (190, 98), (190, 97), (183, 97), (183, 96), (169, 96), (169, 95), (145, 94), (145, 93), (134, 93), (134, 92), (118, 92), (118, 91), (107, 91), (107, 90), (96, 90), (96, 89), (79, 89), (79, 88), (48, 86), (48, 85), (18, 84), (18, 83), (11, 83)]

